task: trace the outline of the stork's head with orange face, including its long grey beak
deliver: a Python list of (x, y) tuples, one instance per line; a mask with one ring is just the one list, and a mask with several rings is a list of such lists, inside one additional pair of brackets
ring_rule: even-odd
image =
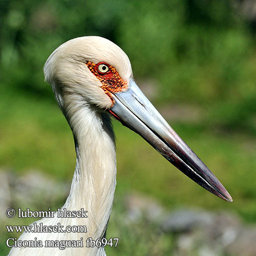
[(113, 42), (98, 36), (69, 40), (50, 55), (44, 73), (63, 113), (68, 115), (72, 104), (109, 112), (190, 179), (232, 201), (220, 181), (141, 92), (129, 58)]

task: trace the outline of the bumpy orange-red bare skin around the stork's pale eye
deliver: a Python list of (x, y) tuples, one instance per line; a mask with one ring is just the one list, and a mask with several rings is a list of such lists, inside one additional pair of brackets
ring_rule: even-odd
[[(109, 71), (106, 73), (101, 73), (98, 71), (98, 65), (103, 63), (104, 65), (109, 67)], [(124, 81), (116, 71), (114, 67), (111, 65), (108, 65), (108, 63), (100, 62), (98, 64), (95, 64), (91, 61), (88, 61), (86, 63), (87, 67), (90, 69), (90, 71), (101, 81), (102, 86), (101, 88), (104, 90), (105, 94), (107, 94), (113, 104), (115, 103), (115, 100), (111, 96), (111, 93), (117, 93), (121, 92), (123, 90), (126, 90), (128, 88), (127, 82)]]

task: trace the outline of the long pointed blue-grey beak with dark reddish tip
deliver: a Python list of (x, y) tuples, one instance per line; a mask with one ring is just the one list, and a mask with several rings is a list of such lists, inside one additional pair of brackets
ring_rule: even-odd
[(212, 194), (232, 202), (220, 181), (169, 126), (132, 78), (128, 88), (125, 92), (112, 94), (115, 103), (110, 113), (138, 133), (190, 179)]

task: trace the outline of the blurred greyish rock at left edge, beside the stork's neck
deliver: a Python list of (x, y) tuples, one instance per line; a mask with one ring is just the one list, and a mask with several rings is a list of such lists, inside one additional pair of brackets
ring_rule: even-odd
[(57, 182), (37, 170), (17, 176), (11, 170), (0, 172), (0, 218), (8, 208), (41, 210), (64, 201), (70, 190), (66, 182)]

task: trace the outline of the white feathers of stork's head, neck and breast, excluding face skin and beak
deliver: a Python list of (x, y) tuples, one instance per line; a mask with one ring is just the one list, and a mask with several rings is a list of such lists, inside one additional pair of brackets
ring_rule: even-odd
[(129, 58), (108, 39), (87, 36), (72, 39), (48, 58), (44, 72), (75, 138), (76, 168), (70, 195), (62, 208), (88, 211), (88, 218), (43, 218), (43, 225), (85, 225), (86, 233), (27, 232), (19, 240), (81, 240), (84, 247), (13, 247), (9, 255), (105, 255), (103, 247), (86, 247), (87, 238), (103, 237), (111, 214), (116, 186), (115, 139), (111, 120), (103, 111), (112, 101), (100, 88), (101, 82), (86, 62), (104, 61), (115, 67), (121, 78), (132, 77)]

